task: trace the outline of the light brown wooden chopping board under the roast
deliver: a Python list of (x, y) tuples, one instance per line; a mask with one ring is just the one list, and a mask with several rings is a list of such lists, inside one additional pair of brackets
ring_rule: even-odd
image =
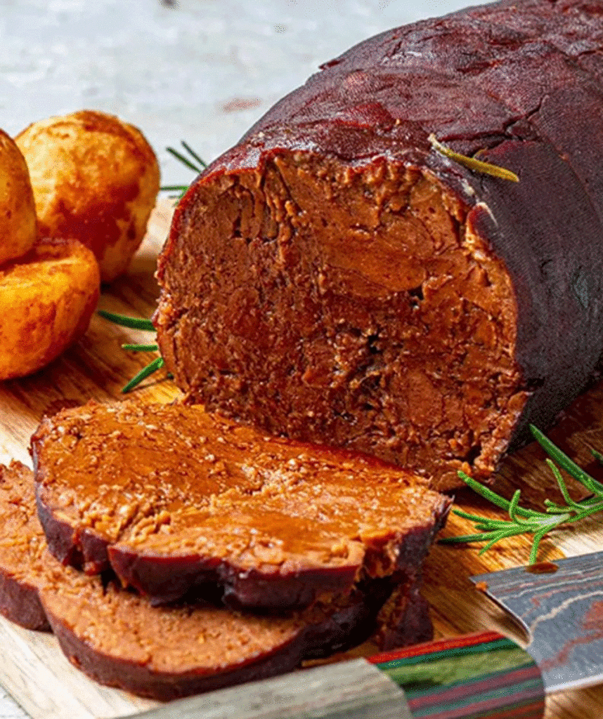
[[(124, 278), (104, 288), (99, 308), (132, 316), (150, 317), (158, 289), (153, 278), (158, 251), (168, 232), (171, 201), (158, 203), (145, 242)], [(94, 316), (89, 331), (76, 347), (42, 372), (23, 380), (0, 383), (0, 462), (20, 459), (31, 465), (30, 435), (47, 411), (76, 406), (89, 399), (120, 400), (122, 386), (155, 357), (121, 348), (124, 342), (152, 341), (150, 333), (115, 326)], [(180, 395), (163, 370), (145, 380), (130, 395), (144, 401), (168, 402)], [(591, 388), (564, 414), (549, 436), (576, 462), (599, 480), (603, 469), (592, 460), (590, 449), (603, 452), (603, 383)], [(497, 475), (494, 489), (511, 497), (522, 489), (522, 502), (541, 508), (545, 497), (560, 500), (553, 475), (535, 444), (509, 457)], [(571, 485), (570, 485), (571, 486)], [(575, 495), (578, 495), (576, 490)], [(459, 508), (489, 516), (502, 516), (471, 490), (456, 495)], [(468, 533), (471, 525), (454, 515), (444, 536)], [(603, 517), (555, 533), (541, 545), (540, 559), (552, 560), (603, 549)], [(479, 546), (436, 545), (425, 566), (425, 596), (432, 606), (435, 636), (451, 636), (481, 629), (497, 629), (522, 641), (509, 619), (484, 595), (473, 589), (468, 577), (527, 563), (530, 541), (517, 537), (478, 556)], [(21, 629), (0, 618), (0, 682), (34, 719), (112, 719), (132, 715), (156, 705), (127, 692), (101, 687), (71, 667), (50, 634)], [(366, 643), (347, 655), (371, 654)], [(547, 719), (600, 719), (603, 686), (575, 690), (548, 698)]]

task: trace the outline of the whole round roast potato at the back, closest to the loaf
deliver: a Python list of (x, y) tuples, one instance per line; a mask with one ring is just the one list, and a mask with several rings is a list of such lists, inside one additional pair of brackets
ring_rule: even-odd
[(40, 237), (80, 240), (109, 282), (127, 270), (159, 191), (153, 149), (133, 125), (82, 110), (15, 138), (30, 168)]

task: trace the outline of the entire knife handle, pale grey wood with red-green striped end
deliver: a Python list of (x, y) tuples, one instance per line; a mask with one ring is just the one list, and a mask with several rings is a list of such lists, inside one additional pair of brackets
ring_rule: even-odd
[(542, 719), (543, 713), (543, 681), (531, 657), (485, 632), (241, 684), (136, 719)]

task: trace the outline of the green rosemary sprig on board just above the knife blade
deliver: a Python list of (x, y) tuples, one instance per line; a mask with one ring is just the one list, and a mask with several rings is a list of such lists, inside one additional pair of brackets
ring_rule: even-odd
[[(516, 490), (512, 499), (509, 501), (493, 492), (488, 487), (476, 482), (476, 480), (473, 480), (471, 477), (468, 477), (468, 475), (464, 472), (458, 472), (458, 476), (461, 477), (463, 482), (466, 482), (472, 490), (476, 491), (479, 495), (489, 500), (491, 503), (497, 505), (497, 507), (507, 510), (509, 513), (509, 519), (490, 519), (470, 514), (468, 512), (463, 512), (460, 509), (453, 509), (453, 513), (459, 517), (472, 521), (475, 528), (479, 530), (479, 533), (446, 537), (440, 541), (445, 544), (485, 541), (486, 544), (479, 552), (479, 554), (484, 554), (485, 551), (490, 549), (493, 544), (496, 544), (497, 541), (500, 541), (501, 539), (505, 539), (506, 537), (514, 536), (516, 534), (532, 534), (533, 539), (532, 551), (530, 552), (530, 564), (535, 564), (536, 557), (538, 556), (538, 546), (540, 545), (540, 540), (543, 539), (545, 534), (563, 524), (580, 521), (591, 514), (595, 514), (603, 510), (603, 484), (601, 482), (597, 482), (594, 477), (591, 477), (582, 470), (581, 467), (573, 462), (564, 452), (561, 451), (561, 449), (558, 448), (558, 446), (553, 444), (553, 442), (545, 437), (545, 435), (535, 426), (530, 425), (530, 431), (536, 441), (538, 441), (538, 444), (540, 444), (540, 446), (542, 446), (548, 454), (546, 463), (548, 464), (548, 467), (550, 467), (551, 472), (553, 472), (559, 486), (559, 490), (561, 490), (561, 495), (563, 495), (563, 500), (565, 500), (565, 504), (557, 504), (553, 502), (553, 500), (546, 499), (546, 509), (544, 512), (525, 509), (520, 507), (521, 490)], [(594, 450), (591, 451), (594, 457), (596, 457), (599, 461), (603, 461), (603, 456), (599, 454), (599, 452), (594, 452)], [(579, 502), (574, 501), (568, 493), (566, 482), (563, 480), (559, 467), (568, 472), (568, 475), (571, 475), (571, 477), (580, 482), (581, 485), (586, 487), (591, 495)]]

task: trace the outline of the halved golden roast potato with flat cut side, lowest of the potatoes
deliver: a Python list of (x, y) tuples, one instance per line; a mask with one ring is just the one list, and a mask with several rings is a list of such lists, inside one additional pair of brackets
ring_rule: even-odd
[(0, 267), (0, 380), (30, 375), (88, 328), (99, 265), (73, 239), (45, 239)]

